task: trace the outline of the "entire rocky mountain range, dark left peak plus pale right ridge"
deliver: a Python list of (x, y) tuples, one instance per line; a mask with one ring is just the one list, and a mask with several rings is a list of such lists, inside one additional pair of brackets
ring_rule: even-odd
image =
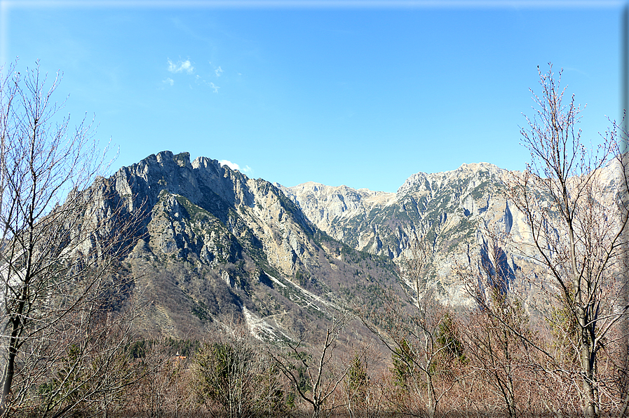
[[(605, 170), (611, 191), (619, 179)], [(504, 193), (513, 175), (477, 163), (414, 174), (395, 194), (314, 182), (283, 187), (163, 151), (99, 180), (90, 196), (102, 210), (144, 213), (126, 258), (147, 306), (142, 332), (198, 337), (232, 316), (259, 337), (281, 339), (330, 321), (334, 306), (377, 303), (384, 288), (402, 292), (395, 264), (404, 267), (415, 237), (428, 244), (426, 289), (455, 308), (470, 306), (456, 269), (480, 269), (492, 233), (529, 239)], [(543, 274), (541, 267), (522, 251), (500, 251), (489, 261), (501, 264), (506, 290), (534, 314), (529, 302), (538, 295), (521, 273)]]

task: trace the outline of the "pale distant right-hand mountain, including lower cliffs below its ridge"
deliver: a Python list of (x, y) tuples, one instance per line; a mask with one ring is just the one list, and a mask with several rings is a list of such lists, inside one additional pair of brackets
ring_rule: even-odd
[[(492, 164), (475, 163), (444, 173), (414, 174), (395, 194), (316, 183), (281, 189), (317, 227), (356, 250), (399, 264), (411, 257), (409, 244), (415, 236), (428, 240), (426, 286), (438, 290), (442, 302), (461, 306), (471, 300), (453, 269), (480, 258), (488, 228), (513, 235), (527, 230), (504, 194), (509, 175)], [(510, 274), (528, 262), (515, 255), (506, 260)]]

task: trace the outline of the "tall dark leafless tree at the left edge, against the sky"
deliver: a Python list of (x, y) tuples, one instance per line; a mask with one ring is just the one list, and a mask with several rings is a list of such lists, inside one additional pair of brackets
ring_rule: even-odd
[(97, 339), (129, 280), (119, 256), (137, 218), (97, 177), (107, 166), (90, 123), (60, 116), (59, 82), (46, 87), (39, 62), (0, 81), (0, 414), (55, 369), (55, 353)]

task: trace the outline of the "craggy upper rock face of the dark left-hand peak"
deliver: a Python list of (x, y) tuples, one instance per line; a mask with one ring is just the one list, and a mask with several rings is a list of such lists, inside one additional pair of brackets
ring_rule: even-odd
[(215, 252), (217, 240), (227, 239), (219, 239), (224, 236), (219, 229), (260, 245), (283, 274), (295, 274), (298, 256), (307, 260), (314, 251), (308, 242), (311, 224), (283, 194), (269, 182), (249, 179), (215, 160), (200, 157), (191, 163), (187, 153), (163, 151), (121, 168), (113, 181), (129, 210), (149, 208), (150, 246), (165, 255), (195, 252), (211, 259), (210, 264), (229, 260), (229, 251)]

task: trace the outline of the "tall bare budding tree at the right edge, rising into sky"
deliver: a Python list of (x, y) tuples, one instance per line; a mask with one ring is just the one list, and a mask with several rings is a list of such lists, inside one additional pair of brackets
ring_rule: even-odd
[(627, 273), (621, 255), (628, 171), (618, 130), (588, 147), (577, 127), (579, 105), (574, 96), (563, 101), (561, 72), (555, 79), (551, 66), (539, 77), (535, 116), (521, 131), (532, 162), (513, 176), (508, 192), (529, 228), (515, 248), (544, 267), (536, 276), (539, 284), (553, 290), (557, 309), (574, 324), (574, 344), (565, 349), (574, 350), (578, 361), (567, 375), (579, 382), (583, 413), (598, 417), (599, 353), (628, 313), (619, 280)]

